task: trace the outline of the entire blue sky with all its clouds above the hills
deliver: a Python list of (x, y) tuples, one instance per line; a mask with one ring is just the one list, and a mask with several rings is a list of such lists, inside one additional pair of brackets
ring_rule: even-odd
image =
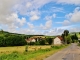
[(49, 36), (80, 32), (80, 0), (0, 0), (0, 29)]

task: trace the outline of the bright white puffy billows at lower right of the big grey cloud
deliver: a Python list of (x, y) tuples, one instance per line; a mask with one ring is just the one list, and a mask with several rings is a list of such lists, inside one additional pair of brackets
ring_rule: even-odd
[(12, 13), (11, 16), (6, 18), (5, 22), (7, 25), (8, 24), (13, 24), (17, 26), (23, 26), (26, 23), (26, 19), (22, 17), (22, 19), (18, 18), (17, 13)]

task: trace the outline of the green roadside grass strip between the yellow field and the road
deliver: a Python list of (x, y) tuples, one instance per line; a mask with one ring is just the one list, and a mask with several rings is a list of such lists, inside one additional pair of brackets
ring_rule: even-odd
[(0, 60), (43, 60), (44, 58), (52, 55), (53, 53), (67, 47), (67, 45), (51, 46), (51, 48), (39, 49), (36, 51), (28, 51), (19, 53), (14, 51), (10, 54), (2, 54)]

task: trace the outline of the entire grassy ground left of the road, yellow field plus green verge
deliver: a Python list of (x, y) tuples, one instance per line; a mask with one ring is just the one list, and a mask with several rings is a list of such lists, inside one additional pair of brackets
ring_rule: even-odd
[[(1, 47), (0, 51), (5, 52), (1, 54), (0, 60), (42, 60), (51, 54), (65, 48), (66, 46), (29, 46), (32, 51), (24, 52), (25, 46), (19, 47)], [(33, 50), (36, 48), (36, 51)], [(38, 48), (41, 48), (38, 50)], [(10, 51), (10, 52), (7, 52)], [(12, 52), (12, 53), (11, 53)], [(23, 52), (23, 53), (19, 53)], [(9, 53), (9, 54), (6, 54)]]

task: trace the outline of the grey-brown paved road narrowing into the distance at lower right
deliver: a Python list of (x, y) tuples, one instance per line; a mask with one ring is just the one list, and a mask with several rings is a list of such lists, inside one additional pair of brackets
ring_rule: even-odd
[(80, 60), (80, 47), (72, 43), (68, 48), (59, 51), (44, 60)]

